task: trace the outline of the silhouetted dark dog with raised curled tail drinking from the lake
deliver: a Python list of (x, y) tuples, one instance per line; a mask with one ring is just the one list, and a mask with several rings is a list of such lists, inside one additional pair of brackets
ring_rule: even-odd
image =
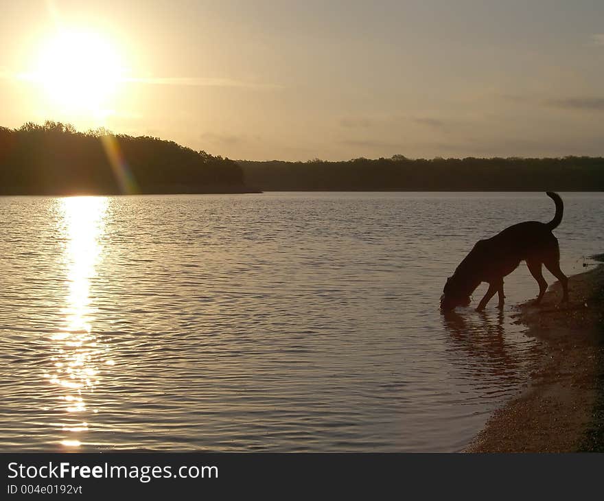
[(568, 302), (568, 278), (560, 270), (558, 240), (552, 233), (562, 220), (564, 203), (557, 193), (547, 191), (546, 194), (556, 205), (553, 220), (547, 223), (521, 222), (509, 226), (491, 238), (479, 240), (461, 261), (453, 276), (447, 279), (441, 296), (441, 310), (447, 312), (458, 306), (469, 306), (470, 295), (482, 282), (489, 283), (489, 290), (476, 310), (484, 310), (496, 292), (499, 296), (498, 306), (503, 307), (503, 277), (518, 268), (520, 261), (526, 261), (531, 275), (539, 284), (536, 304), (541, 301), (548, 288), (542, 275), (542, 265), (560, 281), (562, 301)]

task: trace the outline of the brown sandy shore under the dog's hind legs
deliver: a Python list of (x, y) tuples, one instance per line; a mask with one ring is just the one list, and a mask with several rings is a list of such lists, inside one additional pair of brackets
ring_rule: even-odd
[[(601, 443), (604, 360), (604, 265), (574, 275), (570, 304), (559, 305), (555, 283), (542, 305), (518, 307), (516, 321), (544, 342), (544, 357), (529, 387), (493, 413), (465, 452), (577, 452)], [(596, 431), (594, 431), (596, 430)], [(599, 430), (599, 431), (598, 431)]]

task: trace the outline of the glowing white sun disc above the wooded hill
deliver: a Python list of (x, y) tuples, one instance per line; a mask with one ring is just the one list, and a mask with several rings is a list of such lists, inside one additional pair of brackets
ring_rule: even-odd
[(111, 113), (123, 73), (119, 51), (108, 39), (74, 30), (41, 44), (33, 77), (52, 108), (96, 116)]

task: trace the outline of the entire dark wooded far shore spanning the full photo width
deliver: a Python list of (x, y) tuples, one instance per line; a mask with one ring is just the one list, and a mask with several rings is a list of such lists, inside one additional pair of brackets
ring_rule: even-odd
[[(124, 183), (124, 179), (131, 182)], [(603, 191), (604, 159), (232, 161), (157, 137), (78, 132), (47, 121), (0, 127), (0, 194), (246, 191)]]

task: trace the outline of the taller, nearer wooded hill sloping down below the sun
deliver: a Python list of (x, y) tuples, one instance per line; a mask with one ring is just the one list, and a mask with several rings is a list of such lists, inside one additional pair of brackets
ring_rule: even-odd
[(78, 132), (54, 121), (0, 128), (0, 194), (244, 191), (240, 165), (173, 141)]

